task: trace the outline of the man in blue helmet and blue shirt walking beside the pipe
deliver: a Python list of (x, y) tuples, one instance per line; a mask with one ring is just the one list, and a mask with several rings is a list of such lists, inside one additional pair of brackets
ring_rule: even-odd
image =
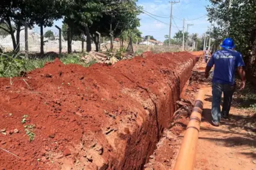
[[(245, 87), (244, 61), (241, 53), (234, 50), (236, 47), (232, 38), (224, 39), (222, 50), (216, 51), (205, 68), (205, 78), (209, 77), (214, 67), (212, 78), (212, 124), (220, 125), (221, 118), (228, 119), (232, 96), (236, 89), (235, 74), (241, 78), (240, 90)], [(224, 94), (222, 111), (220, 110), (221, 94)]]

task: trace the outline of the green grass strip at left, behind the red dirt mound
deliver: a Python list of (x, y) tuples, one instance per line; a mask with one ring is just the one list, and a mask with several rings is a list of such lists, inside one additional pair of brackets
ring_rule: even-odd
[[(60, 60), (63, 64), (79, 64), (84, 67), (92, 66), (97, 63), (95, 59), (84, 62), (81, 59), (86, 53), (64, 54)], [(44, 67), (45, 63), (52, 62), (54, 57), (51, 55), (44, 58), (28, 56), (22, 53), (0, 53), (0, 77), (20, 76), (22, 72), (32, 71)]]

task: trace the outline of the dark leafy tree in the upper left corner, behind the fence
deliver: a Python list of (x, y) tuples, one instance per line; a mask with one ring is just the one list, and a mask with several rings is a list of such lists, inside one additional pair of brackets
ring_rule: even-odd
[[(32, 28), (35, 24), (41, 27), (41, 52), (44, 52), (43, 26), (52, 26), (53, 20), (60, 18), (58, 11), (67, 0), (1, 0), (0, 29), (8, 32), (12, 37), (13, 50), (20, 50), (20, 31), (24, 25)], [(58, 16), (58, 17), (57, 17)], [(25, 24), (26, 23), (26, 24)], [(16, 37), (15, 37), (16, 33)]]

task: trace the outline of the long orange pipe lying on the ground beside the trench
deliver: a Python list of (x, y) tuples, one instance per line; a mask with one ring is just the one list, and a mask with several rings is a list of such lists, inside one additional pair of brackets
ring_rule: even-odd
[(204, 106), (204, 90), (198, 92), (187, 130), (185, 132), (180, 152), (174, 170), (192, 170), (194, 168), (196, 145), (198, 141), (202, 110)]

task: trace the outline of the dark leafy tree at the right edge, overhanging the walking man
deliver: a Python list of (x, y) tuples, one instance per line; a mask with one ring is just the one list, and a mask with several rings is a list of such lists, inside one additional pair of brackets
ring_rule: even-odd
[[(250, 73), (256, 76), (256, 1), (213, 1), (207, 8), (210, 22), (220, 27), (221, 39), (231, 37), (244, 55)], [(230, 5), (231, 4), (231, 5)]]

